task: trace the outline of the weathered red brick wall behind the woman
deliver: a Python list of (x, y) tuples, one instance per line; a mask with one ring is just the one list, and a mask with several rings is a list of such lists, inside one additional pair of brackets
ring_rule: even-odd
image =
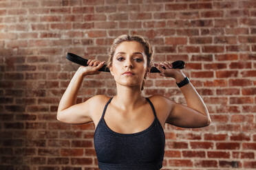
[[(184, 60), (211, 114), (209, 127), (165, 125), (162, 169), (256, 169), (254, 0), (1, 0), (1, 170), (98, 169), (94, 124), (56, 121), (78, 69), (65, 53), (107, 60), (120, 34), (149, 38), (156, 62)], [(77, 102), (115, 93), (109, 73), (91, 75)], [(175, 80), (156, 74), (143, 94), (186, 103)]]

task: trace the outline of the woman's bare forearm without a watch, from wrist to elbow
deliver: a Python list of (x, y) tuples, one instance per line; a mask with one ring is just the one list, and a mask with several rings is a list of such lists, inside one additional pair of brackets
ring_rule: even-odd
[(83, 82), (83, 73), (76, 71), (58, 104), (58, 112), (76, 104), (78, 90)]

